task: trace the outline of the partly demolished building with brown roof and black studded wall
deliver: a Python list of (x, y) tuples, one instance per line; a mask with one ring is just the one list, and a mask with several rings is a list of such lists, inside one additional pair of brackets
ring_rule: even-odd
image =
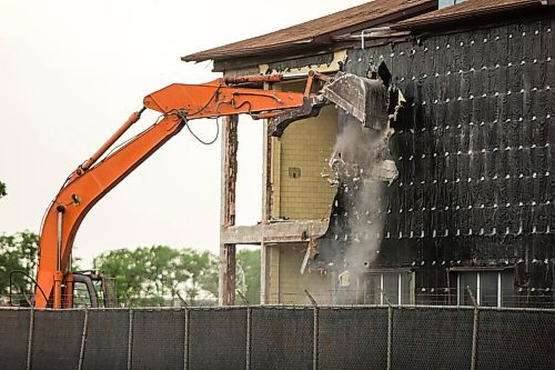
[(258, 244), (262, 303), (306, 303), (306, 290), (333, 304), (554, 306), (555, 7), (446, 2), (376, 0), (183, 57), (295, 76), (273, 86), (286, 90), (314, 70), (401, 92), (381, 134), (333, 106), (265, 123), (258, 226), (235, 226), (238, 119), (225, 122), (223, 303), (235, 244)]

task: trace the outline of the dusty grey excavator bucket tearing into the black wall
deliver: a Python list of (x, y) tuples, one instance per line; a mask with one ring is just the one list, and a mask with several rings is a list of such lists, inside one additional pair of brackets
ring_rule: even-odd
[(382, 80), (339, 72), (324, 84), (322, 96), (355, 117), (366, 128), (387, 128), (389, 92)]

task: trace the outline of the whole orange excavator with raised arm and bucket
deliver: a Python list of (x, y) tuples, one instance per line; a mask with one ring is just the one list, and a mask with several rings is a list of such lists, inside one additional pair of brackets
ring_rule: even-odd
[[(304, 92), (262, 89), (263, 83), (293, 78), (306, 79)], [(335, 103), (359, 118), (366, 127), (384, 124), (384, 114), (385, 119), (387, 116), (386, 87), (379, 80), (354, 76), (347, 78), (354, 83), (345, 83), (344, 73), (341, 78), (316, 72), (304, 77), (266, 74), (220, 78), (202, 84), (174, 83), (147, 96), (141, 110), (132, 113), (90, 159), (68, 177), (48, 208), (40, 233), (34, 307), (73, 307), (77, 282), (87, 284), (91, 296), (90, 304), (98, 304), (95, 297), (92, 297), (95, 293), (91, 287), (92, 280), (102, 278), (94, 273), (71, 272), (71, 250), (79, 227), (103, 196), (188, 127), (190, 120), (248, 113), (253, 118), (270, 119), (271, 133), (280, 136), (289, 123), (316, 116), (321, 107)], [(317, 92), (314, 93), (313, 90)], [(377, 104), (376, 97), (381, 97)], [(140, 119), (145, 109), (160, 112), (160, 119), (104, 156)], [(111, 300), (104, 297), (103, 301)]]

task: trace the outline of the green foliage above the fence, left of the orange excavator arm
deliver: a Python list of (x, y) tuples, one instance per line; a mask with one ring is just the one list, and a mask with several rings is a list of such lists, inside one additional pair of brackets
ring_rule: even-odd
[[(0, 296), (8, 296), (12, 271), (24, 271), (34, 278), (38, 248), (39, 236), (30, 231), (0, 236)], [(13, 292), (32, 294), (33, 288), (24, 274), (13, 274)]]

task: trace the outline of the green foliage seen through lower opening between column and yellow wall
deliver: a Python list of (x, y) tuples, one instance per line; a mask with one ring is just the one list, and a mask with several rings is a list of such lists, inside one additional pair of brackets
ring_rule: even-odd
[(236, 253), (236, 289), (249, 303), (260, 303), (260, 249), (240, 250)]

